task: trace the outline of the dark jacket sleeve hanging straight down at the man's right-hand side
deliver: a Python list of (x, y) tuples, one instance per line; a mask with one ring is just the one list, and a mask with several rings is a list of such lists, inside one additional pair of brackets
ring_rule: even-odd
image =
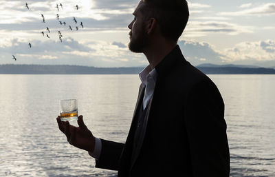
[(224, 103), (216, 85), (212, 81), (197, 83), (190, 90), (185, 107), (193, 175), (228, 177), (230, 155)]

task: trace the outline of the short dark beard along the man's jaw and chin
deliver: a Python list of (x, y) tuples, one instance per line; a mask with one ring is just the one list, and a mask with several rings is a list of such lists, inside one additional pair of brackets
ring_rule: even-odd
[[(131, 36), (131, 32), (130, 32)], [(128, 44), (129, 50), (135, 53), (141, 53), (144, 51), (144, 48), (148, 46), (148, 37), (146, 36), (145, 30), (142, 30), (140, 34), (135, 36), (135, 38), (130, 38), (130, 42)]]

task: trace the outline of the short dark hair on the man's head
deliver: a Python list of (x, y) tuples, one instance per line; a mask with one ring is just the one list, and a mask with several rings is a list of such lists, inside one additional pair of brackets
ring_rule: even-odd
[(142, 0), (140, 9), (146, 19), (155, 18), (164, 37), (176, 41), (184, 32), (189, 10), (186, 0)]

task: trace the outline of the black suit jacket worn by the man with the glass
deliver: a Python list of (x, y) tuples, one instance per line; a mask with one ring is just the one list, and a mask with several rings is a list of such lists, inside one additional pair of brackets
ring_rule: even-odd
[(178, 45), (155, 69), (157, 82), (137, 153), (131, 156), (142, 87), (126, 142), (102, 139), (96, 167), (118, 170), (119, 177), (229, 176), (224, 104), (216, 85), (184, 59)]

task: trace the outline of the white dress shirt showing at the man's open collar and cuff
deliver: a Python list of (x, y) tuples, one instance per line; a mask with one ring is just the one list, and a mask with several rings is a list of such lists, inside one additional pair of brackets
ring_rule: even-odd
[[(142, 86), (145, 88), (143, 97), (143, 110), (145, 110), (155, 90), (155, 83), (157, 81), (157, 71), (155, 70), (155, 68), (152, 70), (151, 66), (148, 65), (142, 70), (142, 72), (140, 72), (139, 76), (140, 80), (142, 81)], [(100, 157), (101, 148), (101, 140), (100, 138), (96, 138), (94, 152), (89, 152), (89, 155), (98, 159)]]

